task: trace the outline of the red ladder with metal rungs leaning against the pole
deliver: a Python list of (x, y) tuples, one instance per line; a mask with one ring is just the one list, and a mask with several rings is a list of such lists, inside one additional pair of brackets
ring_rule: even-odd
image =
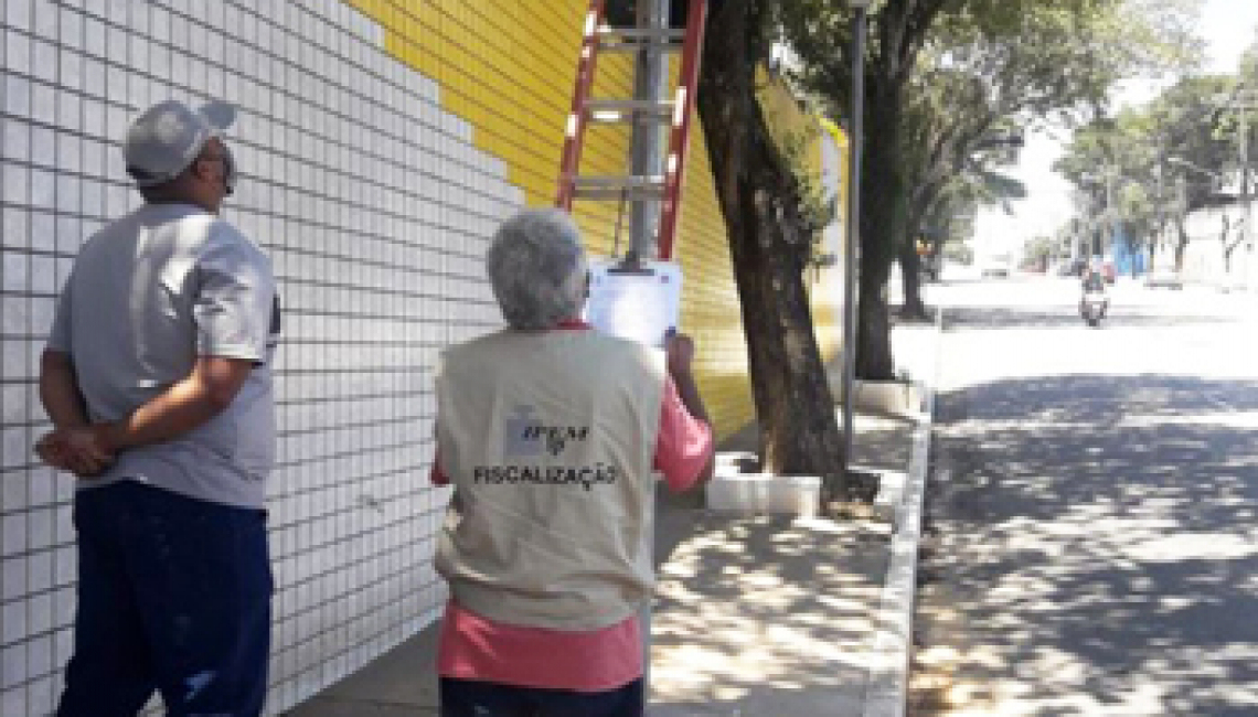
[[(659, 258), (671, 259), (681, 210), (686, 155), (689, 148), (691, 114), (694, 109), (694, 88), (698, 86), (699, 55), (703, 54), (703, 25), (707, 20), (706, 0), (689, 0), (684, 30), (644, 30), (604, 26), (606, 0), (590, 0), (585, 15), (581, 57), (576, 65), (576, 87), (572, 107), (564, 128), (564, 155), (560, 160), (559, 192), (555, 206), (572, 210), (572, 200), (663, 201), (659, 213)], [(678, 45), (676, 40), (682, 40)], [(608, 40), (608, 42), (604, 42)], [(638, 52), (645, 44), (682, 52), (682, 68), (672, 101), (590, 98), (594, 68), (600, 52)], [(668, 122), (668, 155), (663, 175), (649, 176), (581, 176), (581, 145), (585, 130), (594, 122), (629, 122), (645, 117)]]

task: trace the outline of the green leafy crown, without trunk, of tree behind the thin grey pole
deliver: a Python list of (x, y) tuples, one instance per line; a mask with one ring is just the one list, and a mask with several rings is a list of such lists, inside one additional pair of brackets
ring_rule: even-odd
[[(1200, 0), (876, 3), (868, 81), (901, 83), (902, 92), (884, 101), (901, 106), (902, 171), (910, 192), (906, 235), (889, 239), (908, 240), (923, 221), (937, 224), (951, 204), (945, 201), (949, 194), (1006, 206), (1025, 196), (1025, 187), (1010, 185), (975, 191), (990, 184), (982, 177), (1016, 161), (1015, 148), (994, 146), (991, 140), (1023, 135), (1054, 117), (1074, 121), (1096, 113), (1122, 78), (1195, 67), (1200, 50), (1190, 20), (1199, 5)], [(793, 79), (829, 113), (845, 114), (852, 19), (847, 3), (799, 0), (777, 4), (776, 11), (781, 36), (800, 60)], [(925, 19), (928, 28), (915, 25)], [(896, 57), (886, 57), (893, 49)], [(871, 92), (871, 103), (881, 99)], [(1140, 197), (1131, 203), (1140, 204)]]

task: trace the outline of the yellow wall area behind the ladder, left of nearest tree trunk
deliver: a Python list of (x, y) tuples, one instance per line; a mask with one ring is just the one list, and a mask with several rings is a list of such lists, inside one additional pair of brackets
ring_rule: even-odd
[[(501, 158), (527, 204), (554, 201), (564, 122), (571, 106), (584, 0), (345, 0), (384, 28), (385, 49), (438, 82), (443, 109), (467, 119), (477, 148)], [(671, 63), (674, 68), (677, 63)], [(632, 60), (598, 60), (595, 97), (632, 97)], [(707, 146), (691, 125), (689, 166), (677, 240), (684, 270), (682, 327), (698, 345), (699, 389), (718, 435), (752, 419), (746, 345), (725, 223), (712, 187)], [(593, 126), (581, 171), (626, 172), (629, 132)], [(587, 249), (610, 254), (615, 203), (576, 203)], [(625, 238), (620, 238), (623, 252)]]

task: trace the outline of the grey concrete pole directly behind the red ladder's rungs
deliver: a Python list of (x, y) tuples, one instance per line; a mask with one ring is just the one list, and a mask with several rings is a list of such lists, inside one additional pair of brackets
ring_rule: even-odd
[[(669, 0), (638, 0), (638, 28), (663, 30), (668, 28)], [(644, 42), (638, 50), (634, 73), (634, 99), (659, 102), (668, 93), (668, 55), (658, 43)], [(662, 175), (664, 161), (664, 127), (639, 114), (633, 123), (632, 171), (634, 176)], [(660, 204), (655, 200), (634, 199), (629, 203), (630, 264), (654, 258), (659, 253), (657, 229)]]

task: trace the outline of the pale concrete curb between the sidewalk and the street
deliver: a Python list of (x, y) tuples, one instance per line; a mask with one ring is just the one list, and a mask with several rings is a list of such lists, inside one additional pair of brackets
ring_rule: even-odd
[(891, 560), (874, 618), (876, 631), (866, 682), (862, 717), (903, 717), (908, 703), (908, 664), (913, 647), (913, 599), (917, 582), (917, 546), (922, 537), (922, 503), (930, 467), (931, 426), (935, 418), (935, 382), (938, 374), (942, 309), (935, 313), (930, 382), (922, 381), (925, 413), (913, 429), (913, 453), (903, 499), (896, 506)]

